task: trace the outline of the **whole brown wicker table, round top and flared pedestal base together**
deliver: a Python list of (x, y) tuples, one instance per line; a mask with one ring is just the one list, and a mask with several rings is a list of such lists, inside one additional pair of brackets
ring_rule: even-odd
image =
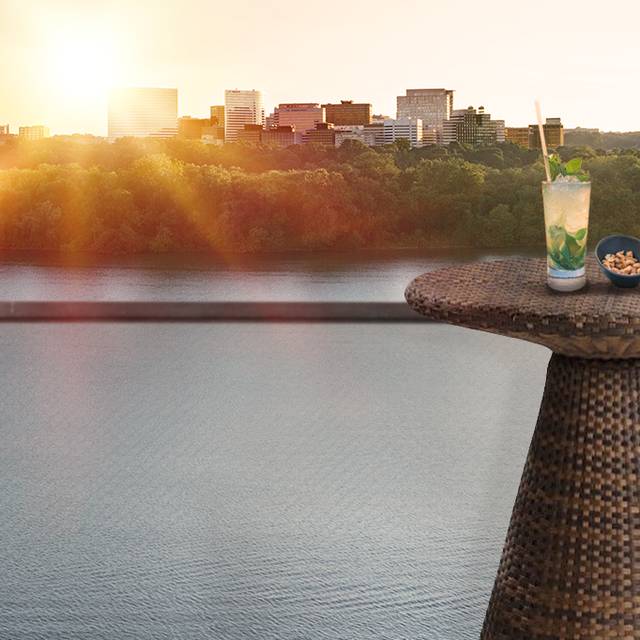
[(640, 639), (640, 290), (587, 262), (573, 294), (542, 260), (426, 273), (409, 304), (553, 351), (484, 640)]

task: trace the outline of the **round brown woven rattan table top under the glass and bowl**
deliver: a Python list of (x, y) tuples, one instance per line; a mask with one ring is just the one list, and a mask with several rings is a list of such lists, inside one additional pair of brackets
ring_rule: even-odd
[(544, 259), (475, 262), (418, 276), (405, 291), (432, 320), (543, 344), (582, 358), (640, 357), (640, 288), (614, 287), (587, 259), (587, 286), (556, 293)]

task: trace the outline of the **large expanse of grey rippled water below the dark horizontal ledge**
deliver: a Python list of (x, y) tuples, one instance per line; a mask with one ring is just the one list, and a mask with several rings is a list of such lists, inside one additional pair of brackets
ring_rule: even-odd
[(0, 638), (478, 637), (541, 347), (3, 324), (0, 349)]

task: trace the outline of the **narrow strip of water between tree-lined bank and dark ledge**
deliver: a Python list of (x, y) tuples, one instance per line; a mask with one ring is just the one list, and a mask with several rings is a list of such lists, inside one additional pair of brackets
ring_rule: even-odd
[(117, 258), (116, 264), (99, 266), (84, 264), (82, 256), (63, 264), (51, 256), (0, 255), (0, 299), (398, 301), (419, 273), (497, 255), (378, 251), (215, 259), (174, 256)]

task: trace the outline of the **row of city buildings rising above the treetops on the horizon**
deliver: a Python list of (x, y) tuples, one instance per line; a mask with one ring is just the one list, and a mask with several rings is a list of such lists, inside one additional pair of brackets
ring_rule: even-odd
[[(370, 103), (351, 100), (323, 105), (280, 103), (265, 116), (260, 91), (235, 89), (225, 91), (224, 105), (210, 106), (209, 117), (193, 118), (178, 116), (175, 88), (118, 88), (109, 94), (107, 138), (177, 136), (208, 144), (243, 141), (285, 146), (311, 141), (340, 146), (347, 139), (378, 146), (405, 138), (413, 147), (505, 141), (540, 146), (531, 135), (537, 125), (505, 127), (505, 121), (492, 119), (484, 106), (453, 109), (453, 94), (442, 88), (407, 89), (405, 96), (397, 97), (396, 118), (374, 115)], [(563, 144), (561, 118), (547, 117), (544, 128), (551, 134), (548, 143), (552, 148)], [(11, 135), (9, 124), (0, 125), (0, 135), (5, 139)], [(19, 127), (21, 138), (40, 140), (49, 135), (42, 125)]]

